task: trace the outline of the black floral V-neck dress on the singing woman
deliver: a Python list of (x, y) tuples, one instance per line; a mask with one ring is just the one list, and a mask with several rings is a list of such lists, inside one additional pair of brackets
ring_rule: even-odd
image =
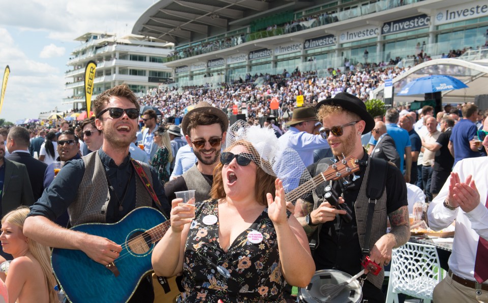
[(218, 201), (196, 204), (184, 252), (185, 291), (178, 302), (285, 302), (278, 240), (267, 210), (224, 252)]

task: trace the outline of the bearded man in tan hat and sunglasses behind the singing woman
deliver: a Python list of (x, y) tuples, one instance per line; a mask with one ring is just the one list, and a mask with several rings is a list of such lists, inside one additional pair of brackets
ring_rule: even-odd
[(183, 117), (182, 132), (198, 162), (183, 175), (164, 185), (170, 201), (176, 198), (175, 192), (184, 190), (195, 190), (197, 201), (210, 198), (210, 189), (214, 183), (212, 174), (218, 163), (228, 127), (227, 115), (207, 102), (199, 102)]

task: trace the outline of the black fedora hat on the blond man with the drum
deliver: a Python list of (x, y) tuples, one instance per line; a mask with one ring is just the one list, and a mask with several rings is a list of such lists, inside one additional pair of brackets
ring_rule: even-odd
[(366, 105), (364, 104), (364, 102), (362, 102), (361, 99), (359, 99), (355, 95), (351, 95), (347, 92), (340, 92), (336, 94), (333, 98), (322, 100), (315, 106), (317, 112), (322, 105), (340, 106), (345, 110), (357, 114), (361, 118), (361, 120), (364, 120), (364, 122), (366, 122), (364, 130), (362, 131), (363, 134), (370, 132), (375, 127), (375, 120), (366, 110)]

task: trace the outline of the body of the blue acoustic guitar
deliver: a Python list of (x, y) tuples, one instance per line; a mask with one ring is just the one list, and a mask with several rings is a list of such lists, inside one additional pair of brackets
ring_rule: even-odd
[(169, 220), (149, 207), (137, 208), (117, 223), (74, 226), (72, 230), (120, 244), (122, 251), (113, 263), (104, 266), (81, 250), (54, 248), (54, 275), (72, 303), (127, 302), (142, 277), (153, 270), (151, 252), (169, 226)]

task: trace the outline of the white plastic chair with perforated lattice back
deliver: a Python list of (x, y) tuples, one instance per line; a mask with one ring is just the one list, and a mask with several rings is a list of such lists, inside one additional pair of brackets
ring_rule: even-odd
[(393, 249), (386, 303), (398, 303), (398, 294), (432, 300), (434, 287), (442, 280), (442, 268), (433, 245), (408, 242)]

